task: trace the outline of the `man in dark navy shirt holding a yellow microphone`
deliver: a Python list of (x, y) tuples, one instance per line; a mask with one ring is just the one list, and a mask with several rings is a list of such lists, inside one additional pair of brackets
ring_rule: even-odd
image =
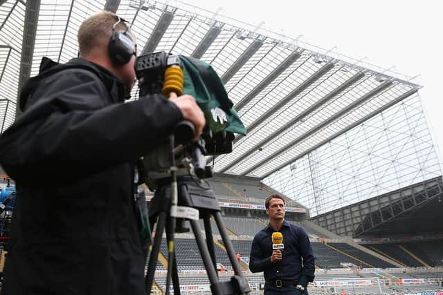
[(255, 234), (249, 269), (264, 272), (264, 294), (308, 295), (307, 284), (314, 280), (314, 254), (306, 232), (284, 220), (284, 199), (266, 198), (269, 225)]

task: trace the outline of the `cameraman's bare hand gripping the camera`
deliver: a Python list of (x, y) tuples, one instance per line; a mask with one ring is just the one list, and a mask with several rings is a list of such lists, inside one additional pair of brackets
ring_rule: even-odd
[(205, 115), (199, 108), (195, 98), (191, 95), (181, 95), (177, 97), (177, 94), (171, 93), (169, 99), (180, 108), (180, 111), (183, 114), (183, 119), (194, 124), (195, 135), (193, 140), (197, 140), (206, 124), (206, 120)]

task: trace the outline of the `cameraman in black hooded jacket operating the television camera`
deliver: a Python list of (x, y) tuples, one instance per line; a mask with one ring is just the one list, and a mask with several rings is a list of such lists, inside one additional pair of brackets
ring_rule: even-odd
[[(126, 37), (129, 61), (111, 54)], [(181, 120), (204, 114), (189, 95), (124, 103), (136, 39), (111, 12), (78, 30), (80, 58), (42, 62), (21, 91), (21, 117), (0, 137), (0, 163), (17, 183), (3, 294), (146, 294), (136, 160)], [(133, 45), (134, 44), (134, 45)]]

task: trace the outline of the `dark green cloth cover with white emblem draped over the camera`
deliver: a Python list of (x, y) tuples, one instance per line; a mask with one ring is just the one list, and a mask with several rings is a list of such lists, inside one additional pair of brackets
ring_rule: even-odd
[(183, 93), (195, 97), (210, 130), (246, 135), (246, 129), (213, 67), (199, 59), (179, 57), (184, 73)]

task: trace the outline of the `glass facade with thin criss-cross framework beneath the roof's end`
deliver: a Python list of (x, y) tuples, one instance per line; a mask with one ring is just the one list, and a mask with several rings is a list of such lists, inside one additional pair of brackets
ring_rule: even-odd
[(262, 181), (316, 216), (440, 175), (415, 94)]

